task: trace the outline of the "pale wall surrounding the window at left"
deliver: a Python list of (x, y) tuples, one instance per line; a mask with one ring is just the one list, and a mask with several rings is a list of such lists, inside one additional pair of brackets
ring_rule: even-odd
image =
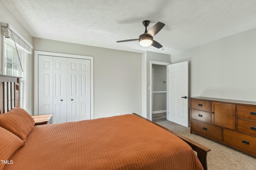
[[(30, 44), (32, 44), (32, 36), (28, 33), (28, 31), (20, 24), (16, 18), (10, 13), (10, 11), (4, 6), (2, 2), (0, 2), (0, 22), (9, 23), (14, 27)], [(2, 68), (2, 59), (3, 59), (3, 51), (2, 51), (2, 42), (3, 42), (3, 35), (2, 35), (2, 27), (0, 27), (0, 74), (3, 74), (3, 68)], [(32, 55), (28, 55), (28, 65), (32, 65)], [(33, 114), (34, 111), (34, 85), (33, 80), (34, 77), (32, 77), (33, 67), (29, 68), (28, 72), (28, 113)]]

